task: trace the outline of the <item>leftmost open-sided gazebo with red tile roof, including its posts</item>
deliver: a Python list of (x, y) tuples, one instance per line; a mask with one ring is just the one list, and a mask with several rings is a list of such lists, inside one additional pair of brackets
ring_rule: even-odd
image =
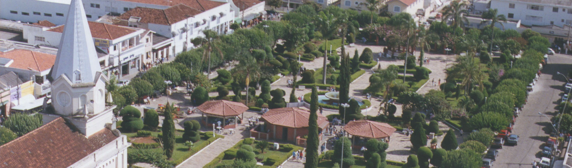
[[(243, 114), (248, 107), (243, 103), (238, 103), (234, 101), (227, 101), (227, 100), (211, 100), (206, 101), (205, 103), (199, 105), (197, 107), (203, 114), (203, 117), (206, 116), (205, 120), (203, 121), (206, 126), (210, 126), (210, 124), (216, 124), (216, 122), (208, 122), (209, 116), (216, 117), (216, 118), (223, 118), (223, 122), (221, 126), (223, 128), (236, 128), (236, 117), (240, 114)], [(227, 126), (227, 118), (235, 117), (235, 124)], [(243, 118), (243, 117), (240, 117)]]

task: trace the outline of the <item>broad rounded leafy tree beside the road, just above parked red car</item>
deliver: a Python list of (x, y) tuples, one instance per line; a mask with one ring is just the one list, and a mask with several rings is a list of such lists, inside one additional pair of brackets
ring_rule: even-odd
[(469, 118), (467, 125), (470, 129), (490, 128), (499, 131), (509, 126), (509, 119), (501, 113), (481, 112)]

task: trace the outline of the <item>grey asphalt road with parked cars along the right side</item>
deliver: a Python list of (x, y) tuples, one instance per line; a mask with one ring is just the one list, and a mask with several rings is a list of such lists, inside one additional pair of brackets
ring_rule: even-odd
[(548, 117), (554, 116), (560, 96), (563, 93), (563, 85), (566, 79), (556, 72), (567, 73), (571, 68), (572, 56), (555, 54), (549, 55), (548, 64), (545, 65), (542, 75), (537, 84), (530, 92), (528, 103), (524, 106), (517, 121), (513, 134), (520, 136), (518, 146), (503, 146), (499, 149), (499, 157), (493, 163), (495, 168), (505, 167), (532, 167), (533, 161), (539, 161), (542, 157), (548, 134), (550, 133), (550, 121), (538, 114), (542, 112)]

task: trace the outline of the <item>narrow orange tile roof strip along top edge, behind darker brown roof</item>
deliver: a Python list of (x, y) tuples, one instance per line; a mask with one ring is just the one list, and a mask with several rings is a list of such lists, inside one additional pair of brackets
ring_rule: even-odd
[(226, 3), (226, 2), (216, 2), (209, 0), (121, 0), (121, 1), (147, 3), (147, 4), (162, 5), (162, 6), (176, 6), (182, 3), (186, 6), (190, 6), (193, 7), (194, 9), (198, 9), (201, 11), (213, 9), (217, 6)]

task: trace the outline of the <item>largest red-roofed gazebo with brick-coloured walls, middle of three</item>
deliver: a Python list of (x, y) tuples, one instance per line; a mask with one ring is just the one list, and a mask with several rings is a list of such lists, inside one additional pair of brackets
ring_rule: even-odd
[[(328, 118), (317, 113), (318, 131), (328, 127)], [(264, 128), (269, 130), (270, 137), (276, 140), (296, 141), (296, 137), (308, 134), (310, 112), (301, 108), (270, 109), (262, 115)], [(321, 138), (321, 134), (320, 134)]]

